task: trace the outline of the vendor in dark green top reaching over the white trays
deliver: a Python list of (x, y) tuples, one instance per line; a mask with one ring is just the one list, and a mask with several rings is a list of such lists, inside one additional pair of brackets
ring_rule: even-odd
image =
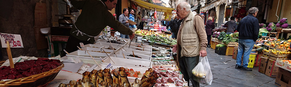
[(108, 11), (115, 8), (117, 0), (70, 0), (72, 5), (78, 10), (82, 10), (76, 23), (72, 26), (70, 37), (67, 42), (66, 51), (74, 52), (78, 50), (79, 43), (93, 44), (94, 37), (109, 26), (114, 30), (129, 35), (130, 39), (134, 37), (132, 30), (121, 24)]

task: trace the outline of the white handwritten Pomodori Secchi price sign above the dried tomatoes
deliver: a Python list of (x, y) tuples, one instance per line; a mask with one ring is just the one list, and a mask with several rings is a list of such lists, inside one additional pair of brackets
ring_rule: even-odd
[(23, 48), (20, 35), (0, 33), (2, 48), (7, 48), (6, 41), (9, 41), (10, 48)]

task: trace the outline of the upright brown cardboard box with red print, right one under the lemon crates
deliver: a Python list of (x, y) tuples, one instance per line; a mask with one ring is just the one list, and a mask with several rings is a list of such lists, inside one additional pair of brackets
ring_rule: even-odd
[(275, 66), (275, 63), (276, 63), (275, 60), (269, 59), (265, 75), (269, 77), (277, 77), (279, 67)]

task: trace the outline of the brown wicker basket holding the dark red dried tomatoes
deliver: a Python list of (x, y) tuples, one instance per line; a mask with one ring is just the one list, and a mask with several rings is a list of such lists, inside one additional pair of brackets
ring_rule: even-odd
[(37, 75), (31, 75), (29, 77), (13, 79), (8, 81), (0, 81), (0, 87), (42, 87), (50, 83), (58, 72), (64, 67), (62, 63), (61, 66), (58, 66), (55, 69), (43, 72)]

